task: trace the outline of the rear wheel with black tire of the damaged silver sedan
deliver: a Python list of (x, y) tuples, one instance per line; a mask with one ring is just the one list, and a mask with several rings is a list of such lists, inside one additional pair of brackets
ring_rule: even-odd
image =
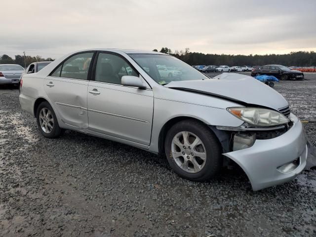
[(56, 138), (62, 133), (53, 108), (48, 102), (40, 103), (36, 113), (40, 134), (47, 138)]

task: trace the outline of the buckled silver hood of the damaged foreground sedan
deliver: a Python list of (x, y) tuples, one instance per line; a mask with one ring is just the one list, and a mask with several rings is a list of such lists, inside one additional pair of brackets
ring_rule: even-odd
[(172, 81), (165, 87), (207, 94), (245, 106), (262, 106), (275, 110), (288, 106), (284, 97), (270, 86), (235, 73), (223, 73), (213, 79)]

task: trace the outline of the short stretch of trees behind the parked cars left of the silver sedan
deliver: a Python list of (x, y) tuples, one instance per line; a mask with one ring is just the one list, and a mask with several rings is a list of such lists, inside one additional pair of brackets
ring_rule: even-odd
[[(25, 60), (24, 60), (25, 59)], [(14, 59), (10, 56), (3, 54), (0, 56), (0, 64), (18, 64), (22, 67), (27, 67), (29, 64), (34, 62), (43, 62), (43, 61), (54, 61), (52, 58), (42, 58), (41, 56), (25, 56), (24, 55), (15, 55)]]

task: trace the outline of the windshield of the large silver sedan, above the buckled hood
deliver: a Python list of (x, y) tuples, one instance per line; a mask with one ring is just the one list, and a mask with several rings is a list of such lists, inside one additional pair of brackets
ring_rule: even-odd
[(161, 85), (174, 80), (209, 79), (190, 65), (172, 56), (161, 54), (129, 54), (129, 56)]

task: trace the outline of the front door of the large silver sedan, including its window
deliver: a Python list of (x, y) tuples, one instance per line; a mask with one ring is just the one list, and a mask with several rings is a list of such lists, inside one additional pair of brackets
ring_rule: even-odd
[(87, 93), (89, 126), (94, 135), (134, 146), (150, 145), (154, 96), (153, 91), (123, 86), (121, 77), (139, 76), (121, 55), (100, 52), (95, 63), (94, 81)]

